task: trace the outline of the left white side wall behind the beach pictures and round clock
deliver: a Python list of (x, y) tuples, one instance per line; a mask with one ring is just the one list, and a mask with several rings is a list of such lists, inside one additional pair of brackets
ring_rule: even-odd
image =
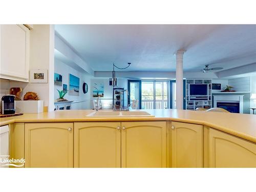
[[(80, 88), (79, 88), (79, 96), (75, 95), (69, 95), (67, 93), (65, 95), (65, 99), (68, 99), (70, 101), (80, 101), (72, 103), (71, 109), (90, 109), (91, 107), (91, 76), (87, 73), (81, 73), (70, 66), (66, 65), (66, 63), (63, 63), (59, 61), (58, 59), (55, 59), (55, 65), (54, 65), (54, 72), (62, 75), (62, 86), (56, 86), (54, 85), (54, 99), (59, 98), (58, 90), (63, 90), (63, 84), (68, 85), (69, 90), (69, 74), (75, 75), (79, 77), (80, 79)], [(86, 82), (88, 84), (88, 93), (84, 94), (82, 92), (82, 83)]]

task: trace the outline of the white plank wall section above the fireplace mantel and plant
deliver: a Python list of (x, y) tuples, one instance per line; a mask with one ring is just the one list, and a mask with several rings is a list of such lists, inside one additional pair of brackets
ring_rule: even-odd
[(228, 85), (237, 92), (250, 92), (250, 77), (228, 79)]

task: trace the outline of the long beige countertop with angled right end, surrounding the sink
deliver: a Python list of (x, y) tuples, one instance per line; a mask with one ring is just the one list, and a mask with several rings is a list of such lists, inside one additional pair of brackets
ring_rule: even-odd
[(172, 120), (202, 124), (256, 143), (256, 115), (188, 110), (143, 110), (155, 117), (86, 117), (94, 110), (65, 110), (24, 114), (0, 119), (0, 125), (14, 122), (78, 122), (78, 121), (162, 121)]

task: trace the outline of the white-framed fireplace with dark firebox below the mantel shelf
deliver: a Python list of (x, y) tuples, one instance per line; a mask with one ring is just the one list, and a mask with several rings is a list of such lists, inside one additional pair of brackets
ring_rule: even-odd
[(214, 95), (214, 107), (231, 113), (243, 113), (243, 95)]

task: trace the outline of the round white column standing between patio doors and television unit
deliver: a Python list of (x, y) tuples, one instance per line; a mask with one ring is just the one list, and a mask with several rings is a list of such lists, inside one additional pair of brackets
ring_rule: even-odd
[(176, 53), (176, 109), (183, 110), (183, 54), (184, 50)]

